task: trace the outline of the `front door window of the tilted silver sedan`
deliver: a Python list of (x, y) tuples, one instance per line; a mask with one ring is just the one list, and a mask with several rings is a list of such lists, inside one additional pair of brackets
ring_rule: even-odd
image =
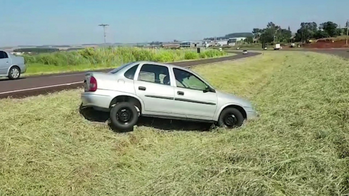
[(177, 87), (189, 88), (193, 90), (206, 90), (208, 88), (205, 82), (190, 72), (173, 68), (173, 73), (175, 74)]

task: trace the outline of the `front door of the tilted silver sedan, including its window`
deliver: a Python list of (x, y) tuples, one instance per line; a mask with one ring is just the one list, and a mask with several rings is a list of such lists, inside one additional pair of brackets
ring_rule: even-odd
[(217, 94), (194, 74), (173, 68), (175, 103), (172, 112), (187, 118), (212, 120), (217, 108)]

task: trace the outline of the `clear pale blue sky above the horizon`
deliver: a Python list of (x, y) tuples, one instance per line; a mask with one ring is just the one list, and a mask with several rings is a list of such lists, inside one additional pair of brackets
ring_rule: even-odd
[(349, 18), (348, 0), (1, 0), (0, 47), (196, 40)]

